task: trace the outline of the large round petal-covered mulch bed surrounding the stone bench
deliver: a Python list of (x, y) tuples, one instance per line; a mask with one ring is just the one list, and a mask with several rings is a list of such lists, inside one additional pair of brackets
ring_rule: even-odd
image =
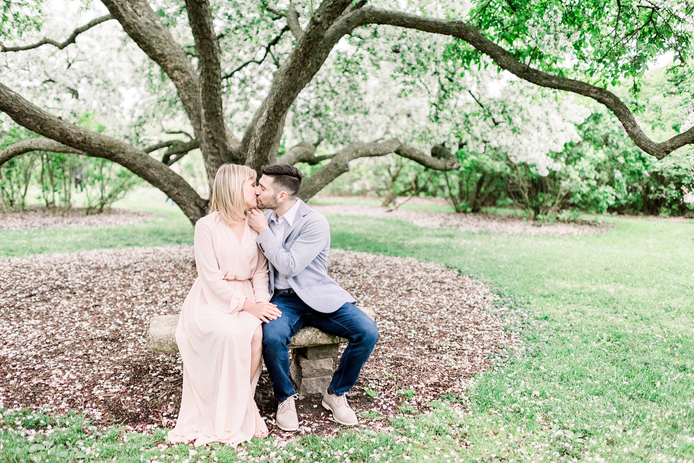
[[(332, 250), (330, 272), (360, 306), (376, 312), (380, 340), (348, 393), (358, 412), (378, 412), (368, 426), (380, 427), (404, 403), (428, 409), (444, 394), (460, 394), (471, 376), (514, 349), (516, 333), (505, 331), (514, 315), (495, 306), (488, 288), (455, 270)], [(0, 408), (74, 410), (101, 424), (173, 426), (181, 360), (147, 351), (144, 335), (153, 315), (180, 311), (195, 277), (192, 247), (0, 261)], [(375, 390), (375, 398), (364, 388)], [(256, 399), (270, 425), (271, 390), (264, 373)], [(403, 390), (414, 396), (398, 394)], [(337, 430), (319, 399), (299, 401), (298, 412), (300, 433)]]

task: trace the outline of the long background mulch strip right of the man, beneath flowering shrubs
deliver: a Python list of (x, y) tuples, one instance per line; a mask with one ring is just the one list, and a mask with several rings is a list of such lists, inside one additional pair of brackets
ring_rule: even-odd
[(526, 234), (526, 235), (586, 235), (604, 233), (616, 227), (610, 222), (579, 220), (574, 223), (555, 222), (552, 225), (538, 225), (536, 222), (524, 221), (518, 214), (491, 213), (451, 213), (413, 211), (396, 209), (388, 212), (386, 207), (368, 207), (355, 204), (321, 205), (311, 204), (313, 209), (324, 216), (369, 216), (375, 218), (393, 218), (411, 222), (418, 227), (441, 228), (452, 227), (466, 231), (491, 231), (493, 233)]

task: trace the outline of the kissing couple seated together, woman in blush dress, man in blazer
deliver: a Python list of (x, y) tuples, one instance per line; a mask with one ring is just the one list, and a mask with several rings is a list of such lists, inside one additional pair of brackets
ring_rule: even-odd
[(322, 403), (338, 423), (357, 424), (345, 393), (369, 360), (378, 329), (328, 277), (330, 227), (296, 198), (303, 175), (276, 164), (262, 167), (257, 185), (256, 177), (247, 166), (221, 166), (210, 213), (195, 225), (198, 277), (176, 328), (183, 398), (171, 442), (236, 446), (266, 437), (254, 398), (263, 360), (278, 401), (277, 426), (297, 430), (287, 346), (302, 326), (349, 340)]

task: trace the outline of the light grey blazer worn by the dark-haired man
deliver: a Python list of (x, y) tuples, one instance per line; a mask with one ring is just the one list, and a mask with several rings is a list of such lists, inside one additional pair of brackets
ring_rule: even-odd
[[(314, 211), (300, 199), (294, 225), (285, 231), (284, 243), (280, 243), (271, 229), (258, 235), (256, 241), (269, 265), (270, 288), (275, 290), (275, 270), (280, 272), (296, 295), (316, 311), (332, 313), (346, 302), (355, 299), (337, 282), (328, 277), (328, 251), (330, 250), (330, 225), (318, 211)], [(265, 211), (270, 220), (271, 210)]]

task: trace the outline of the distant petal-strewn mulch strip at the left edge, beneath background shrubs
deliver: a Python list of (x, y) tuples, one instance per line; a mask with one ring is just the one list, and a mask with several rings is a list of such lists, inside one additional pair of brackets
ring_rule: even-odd
[(87, 216), (87, 210), (73, 207), (67, 211), (37, 208), (24, 212), (0, 213), (0, 229), (30, 230), (58, 227), (112, 227), (130, 225), (154, 217), (144, 211), (105, 209)]

